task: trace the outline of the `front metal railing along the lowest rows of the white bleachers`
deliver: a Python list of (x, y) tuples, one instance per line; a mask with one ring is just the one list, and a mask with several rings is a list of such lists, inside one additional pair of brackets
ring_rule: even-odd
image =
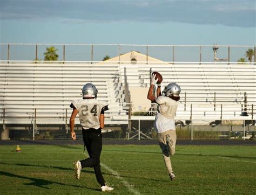
[[(133, 119), (154, 119), (157, 113), (157, 105), (153, 103), (149, 110), (132, 110), (132, 103), (122, 103), (122, 110), (108, 110), (105, 113), (106, 122), (128, 120), (129, 112), (131, 120)], [(255, 106), (251, 104), (237, 103), (191, 103), (186, 105), (180, 104), (176, 114), (176, 120), (256, 120)], [(17, 124), (31, 123), (31, 121), (42, 121), (43, 124), (67, 124), (71, 115), (71, 109), (63, 108), (2, 108), (0, 109), (0, 123)], [(78, 117), (77, 117), (78, 119)], [(10, 121), (10, 122), (8, 122)], [(114, 124), (114, 123), (113, 123)]]

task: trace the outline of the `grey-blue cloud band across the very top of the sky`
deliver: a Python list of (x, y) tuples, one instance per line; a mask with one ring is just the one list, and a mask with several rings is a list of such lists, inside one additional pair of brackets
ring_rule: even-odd
[(255, 0), (0, 0), (1, 19), (180, 22), (255, 27)]

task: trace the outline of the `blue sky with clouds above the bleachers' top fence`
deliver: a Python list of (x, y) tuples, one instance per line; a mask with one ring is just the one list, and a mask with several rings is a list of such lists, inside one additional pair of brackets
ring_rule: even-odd
[(1, 43), (256, 45), (255, 0), (0, 0)]

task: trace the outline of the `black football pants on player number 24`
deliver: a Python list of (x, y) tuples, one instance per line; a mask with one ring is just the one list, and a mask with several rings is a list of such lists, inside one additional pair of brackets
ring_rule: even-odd
[(101, 129), (83, 129), (84, 146), (89, 154), (89, 158), (86, 158), (81, 162), (82, 169), (85, 167), (93, 168), (95, 176), (100, 186), (105, 185), (105, 180), (100, 170), (100, 153), (102, 152), (102, 134)]

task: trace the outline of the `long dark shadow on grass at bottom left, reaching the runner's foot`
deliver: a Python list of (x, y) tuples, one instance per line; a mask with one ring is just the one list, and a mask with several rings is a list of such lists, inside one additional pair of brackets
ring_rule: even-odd
[[(7, 176), (7, 177), (17, 177), (20, 179), (28, 179), (28, 180), (31, 180), (31, 183), (24, 184), (24, 185), (32, 185), (32, 186), (37, 186), (37, 187), (41, 187), (43, 189), (49, 189), (49, 190), (50, 190), (50, 188), (48, 187), (48, 185), (51, 185), (51, 184), (84, 188), (83, 186), (79, 186), (79, 185), (63, 184), (63, 183), (59, 183), (59, 182), (52, 182), (52, 181), (49, 181), (46, 179), (38, 179), (38, 178), (33, 178), (33, 177), (19, 176), (19, 175), (15, 175), (13, 173), (4, 172), (4, 171), (0, 171), (0, 175)], [(89, 187), (85, 187), (85, 188), (91, 189)], [(91, 189), (91, 190), (98, 190), (98, 189)]]

